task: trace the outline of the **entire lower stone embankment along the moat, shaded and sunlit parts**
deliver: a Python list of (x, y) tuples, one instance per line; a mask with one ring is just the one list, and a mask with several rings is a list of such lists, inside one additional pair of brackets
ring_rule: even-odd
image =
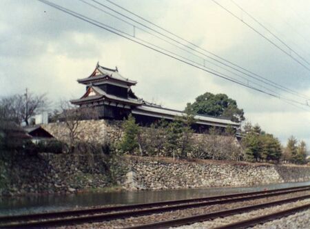
[(160, 190), (310, 181), (309, 166), (136, 156), (40, 153), (1, 161), (0, 169), (0, 195), (90, 191), (116, 184), (125, 190)]

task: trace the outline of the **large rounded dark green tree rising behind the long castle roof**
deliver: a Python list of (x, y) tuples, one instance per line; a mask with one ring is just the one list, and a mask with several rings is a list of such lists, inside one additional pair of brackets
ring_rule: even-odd
[(226, 94), (211, 94), (209, 92), (198, 96), (194, 103), (187, 103), (185, 112), (192, 115), (227, 117), (236, 122), (245, 119), (243, 110), (238, 108), (234, 99), (230, 99)]

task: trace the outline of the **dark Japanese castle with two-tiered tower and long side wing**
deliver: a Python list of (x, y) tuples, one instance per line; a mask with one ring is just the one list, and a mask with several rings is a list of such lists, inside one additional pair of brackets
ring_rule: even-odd
[[(172, 121), (174, 117), (185, 115), (182, 111), (163, 108), (138, 98), (131, 89), (137, 82), (122, 77), (117, 68), (105, 68), (97, 63), (94, 72), (87, 78), (78, 79), (78, 82), (86, 86), (86, 92), (81, 99), (72, 100), (71, 103), (96, 106), (101, 119), (122, 120), (131, 113), (137, 123), (147, 126), (158, 119)], [(220, 129), (228, 125), (233, 128), (240, 126), (239, 123), (221, 117), (196, 115), (194, 118), (195, 130), (207, 130), (210, 126)]]

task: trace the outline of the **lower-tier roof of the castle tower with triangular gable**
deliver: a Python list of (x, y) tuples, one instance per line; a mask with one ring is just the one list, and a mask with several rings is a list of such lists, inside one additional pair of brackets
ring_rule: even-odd
[(73, 104), (81, 105), (83, 103), (97, 102), (104, 100), (116, 101), (134, 106), (138, 106), (143, 103), (141, 99), (134, 99), (130, 97), (122, 98), (117, 97), (113, 94), (107, 94), (105, 91), (101, 90), (101, 88), (96, 86), (90, 86), (90, 88), (87, 89), (86, 93), (83, 95), (83, 97), (81, 97), (81, 99), (74, 99), (71, 100), (70, 102)]

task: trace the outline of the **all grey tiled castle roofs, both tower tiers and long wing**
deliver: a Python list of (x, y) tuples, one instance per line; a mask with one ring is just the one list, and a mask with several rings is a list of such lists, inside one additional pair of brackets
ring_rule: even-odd
[[(76, 105), (83, 105), (87, 103), (107, 104), (111, 106), (124, 106), (124, 108), (130, 108), (132, 106), (132, 113), (136, 115), (145, 115), (149, 117), (158, 117), (165, 119), (174, 119), (174, 117), (184, 116), (185, 112), (180, 110), (172, 110), (163, 108), (154, 103), (143, 101), (136, 97), (136, 95), (130, 89), (130, 86), (135, 85), (136, 81), (125, 79), (118, 73), (118, 69), (105, 68), (99, 66), (97, 63), (94, 72), (90, 77), (79, 79), (79, 83), (87, 84), (89, 86), (87, 91), (80, 99), (71, 100), (71, 103)], [(98, 85), (103, 83), (111, 83), (117, 86), (127, 88), (127, 98), (118, 97), (113, 94), (107, 94)], [(195, 115), (196, 123), (209, 125), (209, 126), (221, 126), (227, 127), (231, 125), (234, 128), (238, 128), (240, 123), (236, 123), (223, 117), (211, 117), (207, 115)]]

